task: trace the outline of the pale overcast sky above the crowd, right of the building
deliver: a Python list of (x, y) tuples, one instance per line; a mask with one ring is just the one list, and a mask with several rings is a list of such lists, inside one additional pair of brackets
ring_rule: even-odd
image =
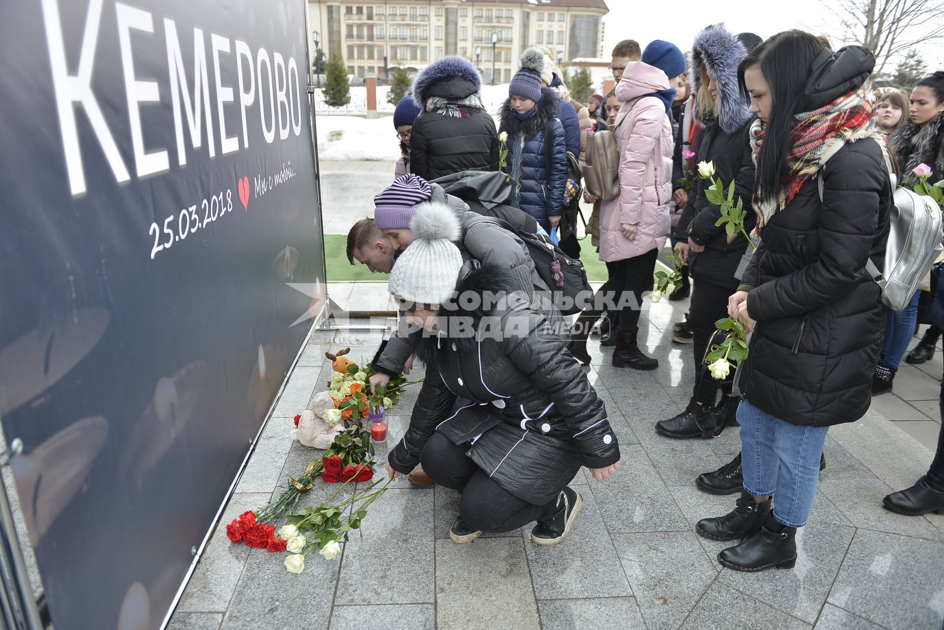
[[(835, 0), (826, 2), (836, 4)], [(625, 39), (638, 41), (643, 48), (649, 41), (666, 40), (687, 51), (701, 28), (718, 21), (733, 33), (750, 31), (763, 39), (790, 28), (827, 35), (834, 44), (842, 38), (834, 14), (816, 0), (725, 0), (715, 4), (703, 0), (607, 0), (606, 4), (610, 8), (603, 18), (606, 56), (616, 42)], [(919, 51), (932, 65), (944, 62), (940, 44), (919, 45)]]

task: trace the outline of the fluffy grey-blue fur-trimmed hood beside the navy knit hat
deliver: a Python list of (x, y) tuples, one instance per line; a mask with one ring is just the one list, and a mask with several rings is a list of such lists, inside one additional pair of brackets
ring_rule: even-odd
[[(688, 64), (688, 82), (692, 93), (701, 96), (700, 67), (717, 83), (718, 113), (717, 123), (725, 133), (733, 133), (750, 120), (750, 101), (737, 86), (737, 66), (747, 57), (748, 49), (724, 25), (711, 25), (695, 36), (692, 44), (691, 61)], [(695, 120), (702, 124), (714, 122), (701, 111), (701, 98), (696, 98)]]

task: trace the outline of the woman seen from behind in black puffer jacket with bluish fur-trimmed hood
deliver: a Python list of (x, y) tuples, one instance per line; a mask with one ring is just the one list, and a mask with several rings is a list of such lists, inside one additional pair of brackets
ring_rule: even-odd
[(481, 104), (481, 76), (472, 62), (450, 55), (413, 79), (422, 112), (413, 121), (410, 169), (427, 181), (461, 171), (498, 170), (495, 121)]

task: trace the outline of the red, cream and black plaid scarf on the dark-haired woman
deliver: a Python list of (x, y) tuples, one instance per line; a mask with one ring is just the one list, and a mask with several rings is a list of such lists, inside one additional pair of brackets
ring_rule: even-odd
[[(829, 105), (795, 116), (790, 131), (792, 146), (786, 154), (787, 174), (776, 199), (754, 198), (758, 232), (778, 211), (783, 210), (800, 191), (807, 179), (817, 176), (823, 165), (846, 142), (874, 138), (885, 147), (885, 139), (872, 119), (872, 106), (865, 86), (840, 96)], [(756, 119), (750, 125), (750, 146), (754, 165), (764, 143), (764, 124)]]

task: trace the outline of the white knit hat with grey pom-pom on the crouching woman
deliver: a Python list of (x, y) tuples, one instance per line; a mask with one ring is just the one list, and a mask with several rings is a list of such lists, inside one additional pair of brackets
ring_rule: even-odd
[(410, 229), (413, 243), (396, 258), (387, 288), (417, 307), (438, 307), (452, 295), (463, 266), (455, 244), (462, 234), (459, 217), (446, 204), (421, 204)]

